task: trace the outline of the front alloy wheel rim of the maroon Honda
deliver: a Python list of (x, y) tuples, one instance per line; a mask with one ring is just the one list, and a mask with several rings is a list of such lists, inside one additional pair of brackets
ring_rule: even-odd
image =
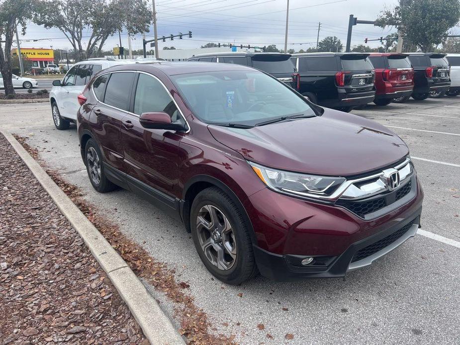
[(196, 230), (209, 262), (221, 270), (232, 268), (237, 256), (236, 238), (224, 213), (215, 206), (204, 205), (196, 217)]

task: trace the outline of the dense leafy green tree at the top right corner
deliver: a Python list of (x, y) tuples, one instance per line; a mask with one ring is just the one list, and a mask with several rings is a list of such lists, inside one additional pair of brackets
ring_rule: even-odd
[(428, 52), (446, 39), (459, 18), (460, 0), (399, 0), (394, 8), (382, 10), (376, 24), (396, 26), (404, 40)]

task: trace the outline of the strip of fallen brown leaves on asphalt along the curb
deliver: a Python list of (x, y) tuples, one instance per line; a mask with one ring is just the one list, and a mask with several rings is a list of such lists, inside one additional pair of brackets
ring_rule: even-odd
[[(205, 311), (195, 304), (193, 296), (187, 293), (190, 286), (186, 282), (176, 279), (174, 269), (169, 268), (166, 263), (152, 258), (142, 246), (124, 236), (116, 223), (108, 219), (103, 211), (98, 210), (97, 207), (83, 198), (83, 193), (77, 186), (67, 183), (59, 172), (46, 169), (44, 162), (40, 159), (38, 150), (27, 144), (27, 137), (17, 135), (14, 137), (44, 167), (46, 173), (72, 199), (80, 211), (85, 214), (117, 253), (128, 263), (136, 275), (144, 278), (175, 303), (175, 317), (181, 323), (179, 333), (186, 338), (188, 344), (237, 344), (235, 335), (213, 334), (217, 329), (212, 327)], [(224, 286), (221, 288), (224, 289)], [(238, 295), (241, 297), (243, 294)]]

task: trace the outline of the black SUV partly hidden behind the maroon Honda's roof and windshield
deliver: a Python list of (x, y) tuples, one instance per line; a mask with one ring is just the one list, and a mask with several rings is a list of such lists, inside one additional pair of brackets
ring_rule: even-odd
[(194, 55), (187, 61), (223, 62), (257, 68), (298, 90), (300, 81), (290, 54), (224, 52)]

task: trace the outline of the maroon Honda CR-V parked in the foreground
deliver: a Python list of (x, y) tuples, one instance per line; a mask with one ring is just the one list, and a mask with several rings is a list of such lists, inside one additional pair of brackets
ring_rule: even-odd
[(258, 271), (344, 276), (419, 227), (423, 192), (397, 135), (261, 71), (116, 66), (79, 102), (93, 187), (123, 187), (179, 217), (206, 268), (229, 284)]

